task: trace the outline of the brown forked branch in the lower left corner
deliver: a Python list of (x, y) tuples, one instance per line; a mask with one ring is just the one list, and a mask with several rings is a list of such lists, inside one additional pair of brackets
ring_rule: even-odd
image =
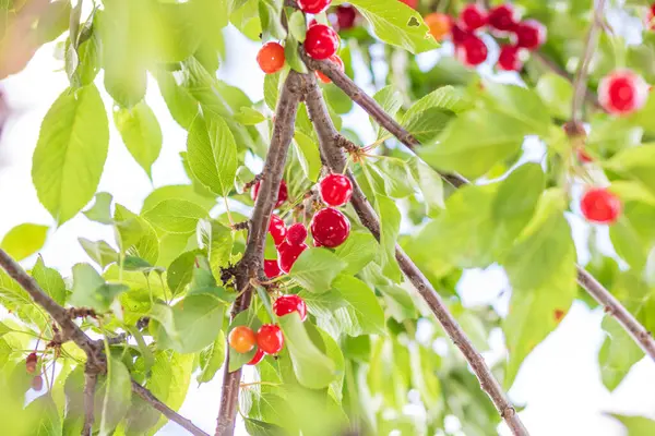
[[(86, 354), (86, 366), (85, 366), (85, 387), (84, 387), (84, 399), (85, 399), (85, 425), (87, 419), (93, 419), (93, 411), (90, 412), (88, 408), (93, 408), (88, 403), (87, 390), (92, 390), (93, 382), (90, 383), (90, 375), (105, 374), (107, 372), (107, 360), (103, 350), (103, 341), (94, 341), (91, 339), (82, 329), (73, 323), (69, 312), (52, 300), (43, 289), (38, 286), (36, 280), (32, 278), (25, 270), (15, 262), (9, 254), (0, 249), (0, 267), (7, 271), (7, 274), (14, 279), (21, 288), (25, 290), (32, 296), (32, 300), (39, 306), (44, 307), (46, 312), (59, 324), (61, 327), (61, 337), (67, 340), (72, 340), (80, 349)], [(153, 408), (162, 411), (159, 404), (162, 402), (155, 398), (146, 388), (132, 380), (132, 391), (143, 398)], [(147, 392), (147, 396), (143, 396), (143, 392)], [(93, 403), (93, 399), (91, 400)], [(190, 421), (180, 416), (177, 412), (171, 409), (169, 414), (166, 414), (170, 421), (179, 424), (183, 428), (191, 432), (196, 436), (209, 436), (206, 433), (191, 424)], [(91, 422), (93, 425), (93, 421)]]

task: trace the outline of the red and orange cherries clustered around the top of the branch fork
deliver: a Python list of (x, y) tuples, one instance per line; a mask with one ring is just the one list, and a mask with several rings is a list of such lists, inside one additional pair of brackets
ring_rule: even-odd
[[(298, 8), (305, 13), (318, 14), (325, 11), (332, 0), (298, 0)], [(317, 23), (312, 20), (305, 36), (305, 51), (313, 59), (327, 59), (344, 71), (344, 62), (336, 55), (340, 39), (334, 29), (325, 24)], [(270, 41), (262, 46), (257, 55), (257, 62), (266, 74), (274, 74), (282, 70), (285, 62), (284, 47), (279, 43)], [(331, 80), (317, 71), (317, 76), (323, 83), (330, 83)]]

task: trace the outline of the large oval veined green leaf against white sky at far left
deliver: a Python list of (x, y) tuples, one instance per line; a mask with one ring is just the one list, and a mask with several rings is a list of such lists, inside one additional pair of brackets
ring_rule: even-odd
[(59, 225), (74, 217), (100, 181), (109, 128), (94, 85), (66, 90), (48, 110), (32, 161), (39, 202)]

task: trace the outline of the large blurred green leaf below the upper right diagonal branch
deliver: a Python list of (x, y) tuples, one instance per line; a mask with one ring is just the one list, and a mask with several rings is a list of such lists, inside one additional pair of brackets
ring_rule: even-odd
[(477, 179), (499, 161), (519, 153), (528, 133), (534, 132), (516, 123), (513, 117), (474, 109), (457, 116), (438, 143), (424, 146), (418, 153), (432, 168)]

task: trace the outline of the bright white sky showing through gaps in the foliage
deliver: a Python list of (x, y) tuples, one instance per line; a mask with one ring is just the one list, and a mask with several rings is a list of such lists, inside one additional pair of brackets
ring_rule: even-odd
[[(219, 73), (221, 77), (243, 88), (252, 99), (261, 99), (263, 73), (254, 61), (259, 46), (234, 31), (227, 34), (226, 43), (228, 61)], [(53, 225), (38, 203), (31, 179), (31, 159), (38, 126), (49, 106), (68, 85), (63, 65), (53, 59), (52, 52), (53, 45), (46, 46), (22, 73), (1, 83), (9, 95), (14, 117), (0, 140), (0, 238), (22, 222)], [(361, 70), (357, 69), (357, 78), (366, 82), (369, 77)], [(102, 89), (102, 82), (97, 83)], [(154, 185), (187, 183), (178, 156), (184, 149), (186, 132), (172, 121), (156, 84), (151, 81), (148, 86), (146, 101), (157, 114), (164, 133), (162, 155), (153, 167)], [(111, 99), (104, 90), (103, 94), (110, 110)], [(344, 121), (358, 131), (364, 141), (371, 140), (368, 117), (361, 110), (357, 108)], [(139, 210), (153, 185), (128, 154), (111, 119), (109, 125), (109, 157), (98, 191), (107, 191), (118, 203)], [(576, 238), (585, 231), (580, 222), (574, 222), (574, 228)], [(75, 263), (88, 262), (76, 242), (79, 237), (114, 241), (109, 228), (80, 215), (50, 232), (41, 251), (46, 265), (68, 275)], [(28, 259), (26, 266), (31, 263), (33, 259)], [(500, 268), (467, 271), (458, 287), (467, 305), (495, 302), (507, 288), (507, 279)], [(501, 313), (507, 306), (504, 300), (496, 302)], [(533, 436), (621, 436), (626, 434), (622, 426), (604, 416), (604, 412), (655, 417), (655, 389), (644, 388), (652, 387), (655, 382), (655, 364), (652, 361), (638, 363), (614, 393), (603, 386), (596, 360), (603, 342), (602, 316), (602, 311), (590, 312), (584, 304), (575, 303), (558, 329), (525, 361), (510, 395), (514, 402), (527, 404), (521, 416)], [(502, 353), (500, 334), (492, 335), (492, 343), (495, 352), (491, 354), (498, 358)], [(219, 385), (219, 375), (201, 388), (195, 388), (192, 382), (180, 411), (211, 434), (218, 410)], [(246, 434), (242, 429), (240, 432)], [(186, 433), (177, 425), (168, 424), (159, 434)], [(457, 432), (453, 434), (461, 435)], [(509, 433), (503, 431), (501, 434)]]

